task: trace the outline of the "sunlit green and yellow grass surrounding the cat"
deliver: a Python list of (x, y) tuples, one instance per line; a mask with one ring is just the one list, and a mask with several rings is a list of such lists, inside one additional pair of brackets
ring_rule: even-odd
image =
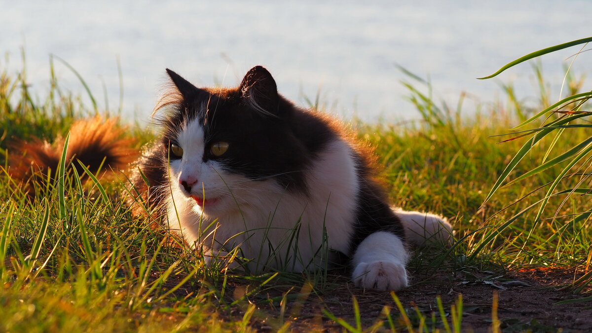
[[(27, 196), (6, 172), (7, 154), (20, 153), (10, 151), (11, 140), (38, 136), (51, 141), (66, 135), (75, 119), (97, 112), (96, 102), (88, 108), (60, 89), (53, 63), (49, 67), (50, 89), (42, 98), (30, 91), (26, 68), (0, 73), (0, 331), (289, 331), (321, 328), (323, 322), (352, 332), (461, 331), (462, 297), (444, 305), (434, 296), (432, 309), (420, 309), (404, 306), (392, 293), (392, 310), (385, 307), (375, 318), (362, 318), (363, 294), (344, 287), (348, 278), (333, 271), (236, 274), (204, 267), (199, 256), (170, 246), (162, 232), (151, 229), (152, 220), (131, 217), (121, 198), (126, 182), (121, 174), (81, 182), (80, 175), (60, 168), (56, 184)], [(542, 124), (538, 111), (549, 106), (549, 92), (540, 89), (541, 105), (532, 108), (506, 85), (507, 101), (478, 105), (467, 119), (460, 113), (462, 96), (456, 108), (449, 108), (435, 102), (429, 82), (411, 73), (407, 77), (404, 84), (422, 120), (404, 126), (358, 121), (352, 127), (375, 147), (394, 204), (441, 213), (457, 230), (451, 249), (417, 252), (409, 265), (415, 277), (410, 289), (435, 276), (453, 279), (460, 273), (487, 281), (525, 267), (589, 271), (590, 153), (573, 159), (584, 144), (569, 156), (562, 154), (586, 142), (590, 131), (549, 131), (571, 130), (527, 145), (522, 160), (504, 175), (528, 138), (500, 144), (503, 138), (494, 136), (529, 119)], [(545, 87), (540, 72), (537, 77), (539, 87)], [(577, 94), (582, 81), (569, 78), (570, 92)], [(578, 108), (586, 110), (586, 105)], [(574, 119), (570, 124), (586, 123)], [(526, 133), (532, 139), (534, 133)], [(140, 143), (153, 137), (137, 126), (131, 126), (130, 135)], [(545, 165), (544, 172), (519, 178), (539, 165)], [(507, 180), (500, 175), (515, 183), (504, 186)], [(561, 188), (549, 192), (554, 183)], [(583, 190), (548, 195), (569, 188)], [(542, 200), (545, 208), (537, 210)], [(525, 210), (529, 206), (535, 209)], [(571, 290), (585, 292), (590, 275), (574, 281)], [(334, 293), (345, 293), (351, 301), (349, 315), (336, 311)], [(312, 314), (306, 308), (311, 300), (320, 304)], [(497, 299), (492, 309), (491, 328), (497, 331)]]

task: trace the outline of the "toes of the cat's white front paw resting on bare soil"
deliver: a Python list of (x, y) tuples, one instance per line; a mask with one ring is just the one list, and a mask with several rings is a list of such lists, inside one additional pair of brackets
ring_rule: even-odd
[(352, 274), (356, 287), (401, 290), (407, 287), (405, 266), (392, 261), (360, 262)]

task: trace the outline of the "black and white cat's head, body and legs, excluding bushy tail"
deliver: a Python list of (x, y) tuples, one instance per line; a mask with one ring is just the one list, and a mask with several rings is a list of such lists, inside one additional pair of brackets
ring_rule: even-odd
[[(303, 271), (345, 254), (356, 286), (407, 286), (408, 245), (448, 241), (440, 216), (393, 209), (371, 158), (336, 121), (278, 94), (256, 66), (236, 88), (173, 85), (155, 108), (162, 140), (131, 177), (168, 226), (217, 258), (240, 247), (249, 268)], [(327, 251), (325, 251), (327, 250)]]

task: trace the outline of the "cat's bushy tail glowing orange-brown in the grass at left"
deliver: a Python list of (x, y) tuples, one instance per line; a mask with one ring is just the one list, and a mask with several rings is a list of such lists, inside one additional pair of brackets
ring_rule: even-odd
[[(85, 176), (85, 171), (80, 164), (93, 174), (99, 169), (111, 172), (126, 168), (136, 158), (137, 150), (132, 148), (135, 140), (126, 137), (125, 130), (114, 118), (97, 116), (75, 121), (70, 127), (66, 165), (75, 168), (81, 177)], [(40, 138), (12, 143), (8, 149), (8, 174), (13, 180), (29, 185), (53, 180), (65, 140), (65, 136), (57, 136), (52, 143)]]

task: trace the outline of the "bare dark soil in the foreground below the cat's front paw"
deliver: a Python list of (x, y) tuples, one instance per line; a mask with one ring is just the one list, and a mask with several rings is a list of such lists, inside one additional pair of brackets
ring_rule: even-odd
[[(407, 289), (397, 292), (397, 296), (416, 328), (419, 325), (419, 315), (416, 311), (422, 313), (428, 323), (428, 331), (433, 328), (443, 331), (436, 296), (442, 298), (443, 308), (450, 323), (451, 305), (458, 300), (459, 294), (462, 294), (462, 331), (491, 332), (493, 297), (494, 293), (497, 293), (497, 316), (503, 332), (591, 332), (592, 302), (555, 305), (562, 300), (589, 296), (558, 288), (574, 281), (574, 275), (578, 277), (581, 274), (575, 274), (573, 271), (538, 269), (505, 274), (503, 277), (500, 276), (499, 280), (468, 282), (463, 278), (451, 280), (434, 277), (429, 281), (415, 281)], [(310, 293), (303, 296), (303, 291), (300, 291), (300, 298), (288, 303), (284, 321), (289, 321), (289, 327), (295, 331), (343, 331), (342, 324), (323, 313), (325, 309), (355, 327), (355, 310), (352, 303), (354, 295), (359, 305), (362, 328), (371, 328), (381, 319), (384, 320), (385, 306), (391, 308), (397, 329), (404, 327), (403, 322), (397, 319), (400, 312), (390, 293), (355, 289), (346, 280), (344, 282), (342, 287), (326, 294)], [(294, 291), (295, 294), (298, 292)], [(263, 299), (250, 302), (259, 305), (259, 310), (253, 317), (258, 318), (255, 319), (255, 327), (259, 331), (276, 331), (281, 326), (282, 321), (278, 318), (279, 302), (275, 306), (265, 305)], [(238, 312), (243, 313), (240, 310)], [(436, 313), (435, 324), (432, 324), (433, 312)], [(386, 321), (381, 326), (388, 329)]]

